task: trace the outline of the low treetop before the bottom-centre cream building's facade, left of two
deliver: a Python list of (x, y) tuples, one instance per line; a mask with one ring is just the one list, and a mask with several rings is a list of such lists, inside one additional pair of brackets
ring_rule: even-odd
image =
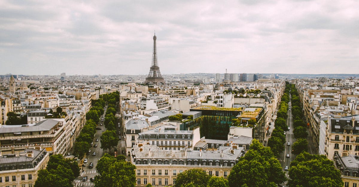
[(210, 178), (211, 176), (203, 172), (202, 169), (189, 169), (178, 173), (174, 187), (181, 187), (191, 182), (199, 187), (207, 187)]

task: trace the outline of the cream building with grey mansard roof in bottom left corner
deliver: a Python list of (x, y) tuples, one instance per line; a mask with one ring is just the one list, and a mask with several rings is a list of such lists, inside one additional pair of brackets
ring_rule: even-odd
[(18, 154), (0, 156), (0, 185), (33, 187), (40, 169), (49, 160), (46, 149), (25, 149)]

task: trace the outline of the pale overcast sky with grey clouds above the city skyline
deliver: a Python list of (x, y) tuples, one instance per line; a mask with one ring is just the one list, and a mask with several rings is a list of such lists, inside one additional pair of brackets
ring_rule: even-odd
[(0, 74), (358, 73), (358, 0), (0, 0)]

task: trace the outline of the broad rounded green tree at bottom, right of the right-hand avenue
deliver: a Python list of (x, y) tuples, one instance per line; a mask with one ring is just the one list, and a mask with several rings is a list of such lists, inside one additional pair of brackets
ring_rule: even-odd
[(288, 186), (342, 187), (344, 182), (333, 161), (325, 155), (303, 152), (290, 163)]

